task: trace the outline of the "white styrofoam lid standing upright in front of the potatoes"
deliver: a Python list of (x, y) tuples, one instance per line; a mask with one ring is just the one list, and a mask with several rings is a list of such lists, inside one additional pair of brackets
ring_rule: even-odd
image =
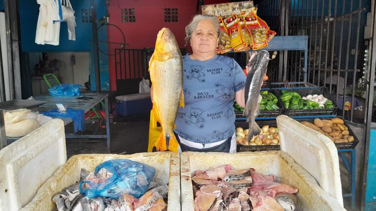
[(343, 206), (337, 148), (332, 140), (286, 115), (277, 117), (281, 150)]

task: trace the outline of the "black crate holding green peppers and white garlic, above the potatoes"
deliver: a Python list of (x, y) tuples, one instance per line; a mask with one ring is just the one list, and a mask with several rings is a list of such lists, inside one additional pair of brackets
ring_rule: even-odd
[[(328, 89), (326, 87), (319, 87), (319, 88), (309, 88), (309, 89), (293, 89), (293, 90), (287, 90), (289, 92), (297, 92), (300, 96), (307, 96), (307, 95), (323, 95), (325, 98), (328, 98), (333, 101), (333, 108), (331, 109), (286, 109), (285, 115), (288, 116), (312, 116), (312, 115), (337, 115), (338, 112), (338, 106), (336, 102), (332, 99), (331, 94), (329, 93)], [(281, 90), (276, 90), (277, 97), (279, 97), (278, 100), (282, 100), (280, 96), (282, 95)]]

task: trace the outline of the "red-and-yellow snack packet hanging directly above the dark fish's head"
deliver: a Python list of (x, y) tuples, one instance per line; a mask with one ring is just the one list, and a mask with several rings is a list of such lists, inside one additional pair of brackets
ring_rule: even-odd
[(252, 50), (258, 50), (268, 46), (268, 40), (266, 34), (268, 29), (262, 28), (257, 20), (257, 16), (254, 12), (251, 12), (246, 18), (246, 25), (248, 32), (252, 37)]

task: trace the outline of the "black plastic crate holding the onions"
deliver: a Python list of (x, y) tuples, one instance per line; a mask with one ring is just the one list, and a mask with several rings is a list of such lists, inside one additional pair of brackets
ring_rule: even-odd
[[(262, 128), (265, 125), (269, 125), (269, 127), (277, 128), (277, 121), (276, 120), (258, 120), (256, 121), (258, 126)], [(241, 127), (243, 129), (248, 129), (248, 122), (241, 121), (235, 122), (235, 127)], [(236, 152), (260, 152), (260, 151), (276, 151), (281, 150), (279, 145), (259, 145), (259, 146), (245, 146), (241, 144), (236, 145)]]

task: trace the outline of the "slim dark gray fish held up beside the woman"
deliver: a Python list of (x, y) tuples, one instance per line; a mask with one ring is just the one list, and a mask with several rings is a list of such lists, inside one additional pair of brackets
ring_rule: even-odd
[(259, 113), (260, 105), (258, 103), (258, 96), (260, 95), (261, 86), (264, 82), (266, 70), (269, 62), (269, 53), (267, 51), (260, 51), (254, 57), (251, 57), (247, 66), (251, 68), (246, 79), (246, 86), (244, 92), (244, 108), (243, 115), (247, 117), (249, 124), (248, 143), (254, 135), (261, 133), (260, 127), (254, 121)]

